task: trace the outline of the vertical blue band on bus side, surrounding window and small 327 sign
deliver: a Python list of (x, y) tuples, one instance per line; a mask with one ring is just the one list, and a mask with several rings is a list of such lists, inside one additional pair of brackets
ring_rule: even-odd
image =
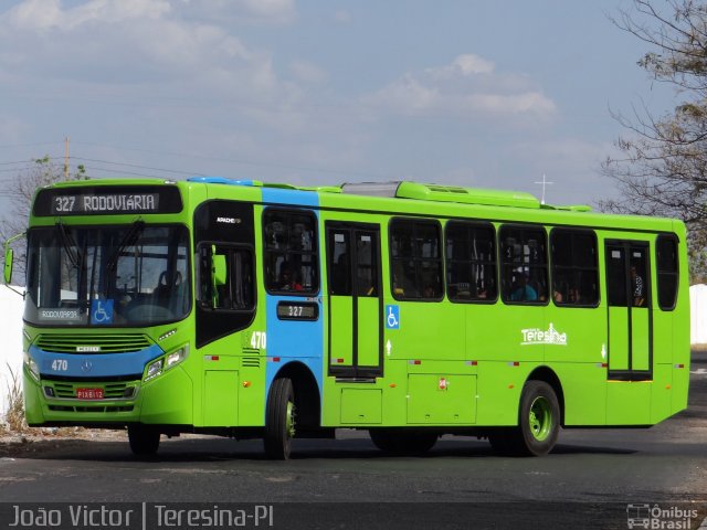
[[(318, 206), (319, 195), (314, 191), (286, 190), (278, 188), (264, 188), (263, 202), (268, 204)], [(319, 213), (314, 211), (319, 220)], [(317, 227), (318, 232), (318, 227)], [(320, 234), (318, 234), (320, 235)], [(321, 237), (319, 237), (321, 241)], [(319, 243), (319, 242), (317, 242)], [(318, 248), (319, 256), (324, 248)], [(321, 262), (321, 257), (319, 258)], [(268, 362), (265, 372), (266, 388), (270, 389), (277, 372), (292, 361), (305, 364), (314, 375), (319, 386), (319, 396), (323, 389), (323, 351), (324, 351), (324, 310), (321, 297), (312, 296), (319, 306), (319, 318), (316, 321), (279, 320), (277, 318), (277, 303), (281, 300), (303, 301), (303, 297), (266, 295), (267, 315), (267, 357), (279, 358), (278, 362)], [(312, 301), (312, 300), (307, 300)]]

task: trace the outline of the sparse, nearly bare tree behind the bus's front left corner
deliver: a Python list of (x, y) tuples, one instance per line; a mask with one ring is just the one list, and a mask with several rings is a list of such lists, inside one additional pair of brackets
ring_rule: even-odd
[[(68, 174), (68, 180), (87, 178), (86, 168), (83, 165), (78, 165), (76, 170)], [(9, 208), (0, 214), (0, 239), (4, 242), (12, 235), (24, 232), (36, 190), (63, 180), (65, 180), (64, 165), (54, 162), (49, 155), (33, 159), (28, 169), (18, 172), (3, 192)], [(18, 241), (12, 247), (15, 256), (12, 280), (17, 285), (22, 285), (24, 284), (25, 242)]]

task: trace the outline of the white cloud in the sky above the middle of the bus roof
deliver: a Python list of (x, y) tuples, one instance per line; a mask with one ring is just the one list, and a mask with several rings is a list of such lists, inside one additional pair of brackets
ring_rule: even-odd
[(363, 98), (379, 109), (402, 115), (548, 118), (557, 107), (525, 77), (498, 74), (493, 62), (474, 54), (452, 63), (408, 73)]

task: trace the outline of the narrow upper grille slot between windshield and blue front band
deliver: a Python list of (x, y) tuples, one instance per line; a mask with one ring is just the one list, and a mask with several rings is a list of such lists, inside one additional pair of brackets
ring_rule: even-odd
[(128, 353), (149, 348), (145, 335), (40, 335), (35, 346), (59, 353)]

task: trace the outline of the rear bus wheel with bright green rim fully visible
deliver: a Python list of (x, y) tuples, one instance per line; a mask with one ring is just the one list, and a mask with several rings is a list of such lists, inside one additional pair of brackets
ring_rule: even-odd
[(560, 405), (555, 390), (545, 381), (528, 381), (520, 394), (518, 427), (508, 438), (518, 456), (547, 455), (560, 432)]

